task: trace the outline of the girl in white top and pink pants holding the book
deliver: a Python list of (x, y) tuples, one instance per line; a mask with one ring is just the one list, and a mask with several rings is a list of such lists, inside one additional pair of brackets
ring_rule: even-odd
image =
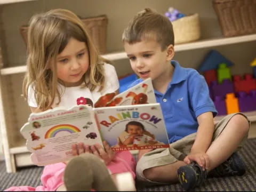
[[(73, 12), (56, 9), (34, 15), (29, 22), (27, 51), (23, 95), (33, 113), (57, 106), (69, 108), (86, 100), (95, 102), (106, 93), (118, 93), (119, 83), (115, 68), (100, 57), (83, 22)], [(100, 183), (101, 176), (105, 173), (103, 180), (107, 180), (110, 178), (109, 172), (113, 174), (113, 178), (117, 173), (130, 172), (134, 179), (135, 161), (131, 153), (114, 153), (106, 142), (103, 145), (105, 149), (100, 145), (73, 145), (74, 156), (85, 154), (73, 158), (67, 165), (68, 171), (65, 171), (66, 163), (47, 165), (41, 177), (43, 186), (11, 187), (7, 190), (65, 190), (63, 176), (68, 190), (90, 190), (91, 187), (97, 190), (97, 186), (92, 186), (95, 182), (104, 190), (104, 185)], [(106, 166), (102, 165), (101, 159), (109, 172), (106, 172)], [(96, 165), (96, 168), (102, 169), (101, 172), (94, 168)], [(84, 167), (90, 170), (85, 171)], [(75, 186), (79, 183), (73, 177), (77, 174), (74, 170), (81, 170), (79, 177), (87, 179), (84, 182), (87, 182), (86, 187), (89, 188)], [(71, 185), (72, 182), (74, 185)]]

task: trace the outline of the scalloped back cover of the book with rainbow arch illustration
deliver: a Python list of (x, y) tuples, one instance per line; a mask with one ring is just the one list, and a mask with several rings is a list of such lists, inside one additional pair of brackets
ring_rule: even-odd
[(67, 161), (74, 143), (102, 145), (93, 109), (84, 105), (32, 113), (21, 134), (27, 139), (31, 160), (39, 166)]

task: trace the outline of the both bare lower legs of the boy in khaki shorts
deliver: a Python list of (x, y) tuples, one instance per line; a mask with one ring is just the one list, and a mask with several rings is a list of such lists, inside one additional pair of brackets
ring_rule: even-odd
[[(249, 123), (244, 116), (235, 115), (232, 117), (219, 137), (212, 142), (206, 151), (210, 159), (210, 167), (207, 171), (209, 172), (226, 161), (234, 153), (248, 131)], [(186, 165), (184, 162), (178, 161), (169, 165), (152, 167), (143, 171), (143, 174), (151, 181), (177, 183), (177, 170), (184, 165)]]

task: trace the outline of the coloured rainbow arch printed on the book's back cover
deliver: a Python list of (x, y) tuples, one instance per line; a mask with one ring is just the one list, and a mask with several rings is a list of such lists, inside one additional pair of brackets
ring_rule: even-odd
[(61, 124), (57, 126), (53, 126), (45, 133), (45, 139), (53, 138), (60, 132), (69, 132), (69, 133), (77, 133), (81, 132), (76, 126), (69, 124)]

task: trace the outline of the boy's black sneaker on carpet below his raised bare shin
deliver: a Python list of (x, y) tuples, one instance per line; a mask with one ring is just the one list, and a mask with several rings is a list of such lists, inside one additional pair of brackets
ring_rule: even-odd
[(245, 164), (238, 153), (233, 153), (225, 162), (210, 171), (211, 177), (226, 177), (233, 175), (243, 175)]

